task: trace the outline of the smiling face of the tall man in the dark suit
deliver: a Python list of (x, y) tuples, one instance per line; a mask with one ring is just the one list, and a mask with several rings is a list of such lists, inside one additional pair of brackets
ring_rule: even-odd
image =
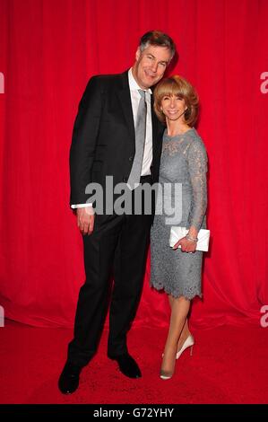
[(163, 77), (171, 59), (168, 47), (151, 46), (136, 52), (133, 74), (137, 84), (144, 90), (157, 84)]

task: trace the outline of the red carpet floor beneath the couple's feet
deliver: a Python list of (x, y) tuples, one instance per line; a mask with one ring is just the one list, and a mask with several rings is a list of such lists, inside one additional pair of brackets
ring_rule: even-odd
[(176, 374), (160, 380), (165, 329), (134, 328), (128, 347), (143, 378), (130, 380), (108, 360), (104, 331), (98, 355), (81, 375), (80, 388), (64, 396), (57, 378), (65, 363), (71, 330), (38, 329), (13, 321), (0, 328), (0, 402), (10, 403), (268, 403), (268, 329), (223, 326), (193, 331)]

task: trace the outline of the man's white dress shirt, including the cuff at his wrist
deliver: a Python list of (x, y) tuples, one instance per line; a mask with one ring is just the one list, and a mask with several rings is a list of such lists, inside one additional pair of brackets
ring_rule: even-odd
[[(131, 104), (134, 116), (134, 125), (137, 119), (139, 102), (141, 100), (141, 95), (138, 90), (141, 87), (137, 84), (132, 73), (132, 67), (128, 71), (128, 84), (130, 89)], [(145, 91), (145, 90), (143, 90)], [(151, 174), (151, 160), (152, 160), (152, 127), (151, 127), (151, 89), (145, 91), (145, 100), (147, 104), (147, 117), (146, 117), (146, 136), (144, 144), (144, 154), (143, 154), (143, 167), (141, 176), (147, 176)], [(72, 208), (82, 208), (82, 207), (92, 207), (92, 204), (76, 204), (72, 205)]]

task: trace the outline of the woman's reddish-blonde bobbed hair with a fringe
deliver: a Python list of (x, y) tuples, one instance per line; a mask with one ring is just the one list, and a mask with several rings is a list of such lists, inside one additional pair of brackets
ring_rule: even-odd
[(179, 75), (170, 76), (162, 79), (157, 84), (153, 96), (153, 108), (157, 117), (162, 123), (166, 123), (166, 117), (161, 110), (161, 101), (165, 96), (176, 95), (186, 101), (187, 110), (185, 112), (185, 121), (189, 126), (194, 126), (198, 117), (199, 99), (195, 88), (186, 79)]

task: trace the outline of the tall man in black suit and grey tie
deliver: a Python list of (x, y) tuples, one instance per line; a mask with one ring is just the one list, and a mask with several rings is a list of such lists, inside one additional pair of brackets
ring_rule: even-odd
[[(132, 171), (137, 176), (139, 160), (138, 181), (143, 185), (158, 180), (163, 127), (152, 110), (150, 88), (160, 81), (174, 54), (175, 45), (168, 35), (147, 32), (136, 51), (134, 66), (120, 75), (93, 76), (79, 105), (70, 153), (71, 207), (76, 209), (83, 234), (86, 281), (79, 294), (74, 337), (58, 382), (63, 393), (77, 389), (82, 367), (96, 353), (112, 269), (108, 357), (117, 361), (125, 376), (142, 376), (128, 354), (126, 333), (142, 292), (152, 218), (144, 209), (141, 215), (121, 214), (115, 209), (99, 212), (89, 186), (99, 183), (104, 197), (110, 198), (107, 177), (112, 176), (113, 187), (125, 183), (134, 198), (129, 185)], [(144, 136), (137, 135), (142, 120)], [(144, 137), (142, 155), (138, 137)]]

